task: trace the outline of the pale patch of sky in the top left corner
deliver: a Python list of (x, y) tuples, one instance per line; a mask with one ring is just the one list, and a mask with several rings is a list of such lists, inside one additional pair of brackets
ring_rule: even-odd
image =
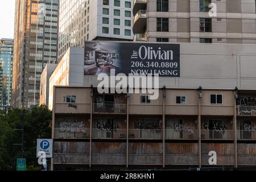
[(14, 38), (15, 0), (0, 0), (0, 39)]

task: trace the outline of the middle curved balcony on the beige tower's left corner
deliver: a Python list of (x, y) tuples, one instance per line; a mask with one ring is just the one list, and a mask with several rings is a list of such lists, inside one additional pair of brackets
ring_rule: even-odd
[(135, 14), (133, 19), (133, 33), (134, 34), (143, 34), (144, 27), (147, 23), (147, 11), (139, 10), (137, 14)]

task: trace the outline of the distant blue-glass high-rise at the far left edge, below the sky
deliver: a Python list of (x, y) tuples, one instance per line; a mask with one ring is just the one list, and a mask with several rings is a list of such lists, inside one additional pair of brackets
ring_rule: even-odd
[(13, 82), (13, 39), (0, 39), (0, 106), (10, 106)]

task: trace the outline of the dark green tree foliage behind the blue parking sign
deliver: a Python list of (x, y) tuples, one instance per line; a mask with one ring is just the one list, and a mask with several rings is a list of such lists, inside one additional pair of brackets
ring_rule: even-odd
[(0, 170), (15, 170), (16, 159), (21, 157), (22, 129), (24, 122), (24, 158), (27, 159), (27, 170), (41, 169), (36, 158), (36, 140), (51, 138), (52, 113), (46, 106), (25, 110), (0, 111)]

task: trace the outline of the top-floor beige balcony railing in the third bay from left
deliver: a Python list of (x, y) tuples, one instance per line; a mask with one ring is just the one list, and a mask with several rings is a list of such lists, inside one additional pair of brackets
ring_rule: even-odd
[(129, 105), (129, 114), (163, 114), (163, 105)]

